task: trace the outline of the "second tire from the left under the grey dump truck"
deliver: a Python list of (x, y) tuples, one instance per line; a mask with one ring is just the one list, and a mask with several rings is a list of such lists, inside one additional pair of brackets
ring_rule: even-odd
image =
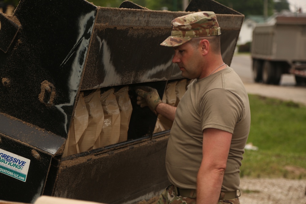
[(263, 62), (263, 83), (266, 84), (276, 84), (279, 83), (280, 76), (275, 76), (277, 73), (277, 68), (275, 63), (271, 61)]

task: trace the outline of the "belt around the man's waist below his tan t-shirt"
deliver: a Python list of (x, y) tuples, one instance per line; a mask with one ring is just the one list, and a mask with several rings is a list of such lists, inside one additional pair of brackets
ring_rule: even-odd
[[(174, 192), (177, 196), (184, 196), (188, 198), (196, 198), (195, 189), (185, 189), (174, 186)], [(239, 191), (240, 192), (240, 191)], [(239, 195), (240, 196), (240, 195)], [(219, 200), (230, 200), (238, 198), (237, 191), (221, 191)]]

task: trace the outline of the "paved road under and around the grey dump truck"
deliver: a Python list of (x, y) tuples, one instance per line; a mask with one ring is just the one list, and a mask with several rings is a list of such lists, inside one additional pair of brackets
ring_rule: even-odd
[(237, 72), (248, 93), (291, 100), (306, 105), (306, 86), (296, 86), (293, 75), (283, 74), (280, 85), (254, 83), (250, 55), (234, 55), (231, 67)]

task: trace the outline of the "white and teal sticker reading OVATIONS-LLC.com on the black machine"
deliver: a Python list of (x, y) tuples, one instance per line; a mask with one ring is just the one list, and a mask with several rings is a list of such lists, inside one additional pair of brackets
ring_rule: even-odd
[(27, 158), (0, 149), (0, 172), (15, 179), (26, 181), (30, 161)]

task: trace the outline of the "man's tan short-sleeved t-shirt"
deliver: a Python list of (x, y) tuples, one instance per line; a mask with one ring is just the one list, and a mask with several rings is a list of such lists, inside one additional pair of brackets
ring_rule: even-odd
[(202, 161), (203, 130), (233, 133), (222, 191), (239, 189), (239, 168), (250, 130), (248, 95), (230, 67), (200, 80), (192, 80), (179, 102), (171, 128), (166, 169), (171, 183), (196, 189)]

